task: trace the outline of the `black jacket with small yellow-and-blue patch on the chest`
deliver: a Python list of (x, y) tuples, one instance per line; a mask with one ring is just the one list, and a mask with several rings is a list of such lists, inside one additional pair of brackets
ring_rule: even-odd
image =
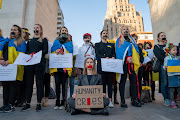
[(95, 53), (97, 57), (97, 72), (103, 73), (101, 68), (101, 58), (115, 57), (115, 48), (112, 43), (103, 43), (102, 41), (95, 44)]

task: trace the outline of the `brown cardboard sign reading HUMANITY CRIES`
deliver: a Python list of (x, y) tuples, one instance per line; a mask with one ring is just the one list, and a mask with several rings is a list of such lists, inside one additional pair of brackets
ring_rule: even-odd
[(81, 108), (104, 108), (103, 86), (76, 86), (75, 107)]

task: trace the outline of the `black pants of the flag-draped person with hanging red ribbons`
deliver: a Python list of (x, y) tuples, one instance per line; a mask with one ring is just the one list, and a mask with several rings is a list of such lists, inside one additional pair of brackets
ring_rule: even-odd
[[(121, 75), (121, 81), (119, 83), (121, 101), (125, 100), (124, 98), (125, 84), (126, 84), (127, 74), (129, 73), (128, 64), (126, 64), (126, 61), (124, 62), (123, 70), (124, 70), (124, 74)], [(130, 72), (131, 72), (131, 74), (129, 73), (130, 93), (131, 93), (132, 100), (136, 100), (137, 95), (138, 95), (136, 73), (132, 70), (131, 67), (130, 67)]]

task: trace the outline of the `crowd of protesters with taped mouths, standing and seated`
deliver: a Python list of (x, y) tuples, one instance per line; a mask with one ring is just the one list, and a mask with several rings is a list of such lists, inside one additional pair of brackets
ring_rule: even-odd
[[(145, 102), (155, 100), (156, 80), (153, 80), (153, 76), (157, 73), (159, 73), (159, 91), (164, 97), (164, 105), (177, 108), (176, 101), (178, 96), (180, 97), (180, 73), (167, 72), (167, 68), (168, 60), (179, 59), (179, 46), (168, 43), (164, 32), (157, 35), (158, 44), (155, 46), (152, 46), (152, 43), (148, 41), (144, 44), (138, 43), (138, 36), (130, 34), (128, 26), (122, 26), (120, 37), (115, 43), (108, 41), (108, 31), (106, 30), (100, 32), (100, 42), (93, 44), (91, 38), (91, 34), (85, 33), (83, 35), (84, 44), (78, 50), (78, 55), (85, 58), (83, 69), (76, 67), (49, 68), (50, 53), (57, 55), (73, 53), (72, 36), (66, 27), (62, 27), (54, 43), (43, 37), (43, 27), (40, 24), (34, 25), (32, 38), (30, 38), (27, 28), (21, 28), (18, 25), (12, 26), (9, 38), (4, 38), (0, 29), (0, 65), (13, 64), (19, 53), (29, 54), (33, 57), (34, 54), (42, 51), (40, 63), (28, 66), (18, 65), (16, 80), (2, 82), (3, 106), (0, 108), (0, 112), (12, 112), (15, 111), (15, 107), (22, 107), (21, 111), (23, 112), (30, 110), (34, 78), (37, 90), (36, 111), (41, 111), (42, 106), (48, 106), (51, 76), (55, 78), (55, 110), (64, 109), (69, 105), (71, 115), (81, 112), (92, 115), (108, 115), (107, 107), (113, 108), (114, 104), (119, 104), (117, 99), (118, 86), (120, 106), (127, 108), (128, 105), (125, 100), (127, 80), (130, 82), (131, 105), (141, 107)], [(144, 63), (144, 58), (148, 56), (145, 51), (151, 49), (153, 49), (154, 57), (151, 58), (151, 61)], [(122, 60), (124, 73), (104, 72), (101, 58)], [(155, 62), (155, 59), (158, 62)], [(75, 60), (76, 55), (73, 56), (73, 64), (75, 64)], [(154, 67), (158, 67), (158, 69), (155, 71)], [(76, 109), (75, 85), (102, 85), (104, 108)], [(144, 89), (144, 86), (149, 89)], [(67, 93), (68, 87), (70, 87), (70, 96)], [(108, 95), (106, 95), (106, 91)], [(143, 92), (148, 96), (146, 101), (142, 98)]]

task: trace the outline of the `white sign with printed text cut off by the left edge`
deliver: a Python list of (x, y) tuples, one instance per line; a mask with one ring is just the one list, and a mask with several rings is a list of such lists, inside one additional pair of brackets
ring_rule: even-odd
[(0, 81), (16, 81), (17, 65), (9, 64), (8, 66), (0, 65)]

